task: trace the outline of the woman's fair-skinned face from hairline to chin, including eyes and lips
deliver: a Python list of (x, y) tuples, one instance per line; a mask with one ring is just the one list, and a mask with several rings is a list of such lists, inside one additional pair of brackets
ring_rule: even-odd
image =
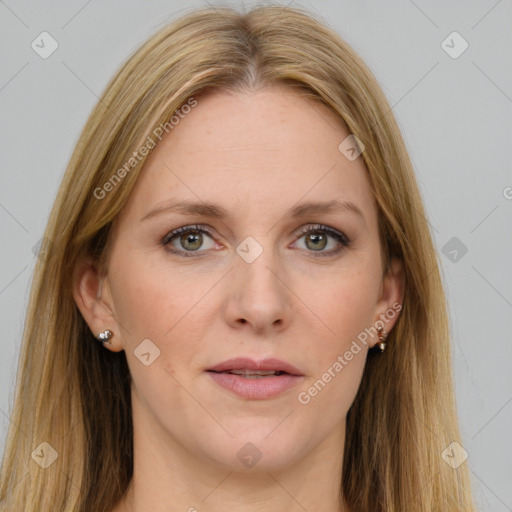
[(98, 299), (111, 316), (81, 309), (125, 350), (135, 430), (158, 450), (270, 469), (342, 448), (377, 342), (363, 333), (402, 298), (362, 157), (338, 148), (348, 135), (270, 88), (200, 98), (152, 150), (114, 226)]

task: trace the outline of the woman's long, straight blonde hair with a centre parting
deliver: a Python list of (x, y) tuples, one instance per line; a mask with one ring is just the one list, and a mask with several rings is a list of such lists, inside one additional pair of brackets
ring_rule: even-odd
[[(130, 374), (98, 343), (72, 295), (84, 256), (99, 263), (110, 227), (143, 167), (94, 193), (155, 127), (212, 90), (285, 85), (337, 113), (365, 145), (386, 264), (403, 261), (403, 309), (380, 357), (369, 353), (347, 416), (342, 492), (355, 512), (473, 510), (460, 442), (448, 313), (424, 207), (391, 108), (376, 79), (325, 22), (299, 8), (188, 12), (151, 37), (111, 80), (70, 160), (35, 269), (1, 468), (0, 510), (109, 511), (132, 476)], [(166, 124), (167, 123), (167, 124)], [(341, 141), (340, 141), (341, 142)], [(133, 164), (133, 162), (132, 162)], [(46, 469), (34, 450), (57, 454)], [(43, 450), (43, 452), (41, 452)], [(46, 450), (46, 452), (44, 451)], [(341, 475), (340, 475), (341, 478)]]

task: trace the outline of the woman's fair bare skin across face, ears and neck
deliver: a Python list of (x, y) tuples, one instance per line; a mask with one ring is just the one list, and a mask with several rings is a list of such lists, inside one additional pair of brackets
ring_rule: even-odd
[[(134, 476), (114, 512), (344, 510), (345, 419), (377, 337), (307, 405), (298, 394), (401, 304), (404, 288), (399, 261), (383, 275), (362, 157), (338, 150), (348, 135), (334, 113), (290, 89), (200, 98), (146, 161), (114, 223), (108, 271), (80, 263), (76, 303), (93, 333), (113, 331), (105, 348), (125, 350), (132, 375)], [(170, 198), (215, 202), (229, 216), (141, 220)], [(355, 203), (364, 218), (286, 216), (297, 203), (332, 199)], [(340, 243), (325, 232), (327, 245), (297, 234), (317, 223), (351, 245), (319, 256)], [(178, 235), (171, 247), (199, 256), (162, 245), (191, 224), (209, 226), (212, 237), (183, 245)], [(248, 236), (263, 249), (252, 263), (236, 252)], [(160, 350), (149, 366), (134, 354), (145, 339)], [(279, 358), (304, 378), (276, 397), (243, 399), (205, 372), (235, 356)], [(248, 442), (261, 453), (251, 468), (237, 457)]]

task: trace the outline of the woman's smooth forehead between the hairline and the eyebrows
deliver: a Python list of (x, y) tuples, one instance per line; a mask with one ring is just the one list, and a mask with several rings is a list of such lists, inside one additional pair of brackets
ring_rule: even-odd
[(375, 213), (363, 160), (339, 151), (350, 133), (327, 107), (275, 87), (197, 101), (152, 150), (128, 213), (171, 197), (273, 217), (301, 200), (347, 200)]

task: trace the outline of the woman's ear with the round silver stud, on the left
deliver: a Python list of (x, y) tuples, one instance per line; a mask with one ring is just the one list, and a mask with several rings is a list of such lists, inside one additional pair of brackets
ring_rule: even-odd
[(114, 336), (110, 339), (110, 344), (104, 343), (103, 346), (112, 352), (123, 350), (108, 277), (98, 270), (90, 258), (79, 262), (75, 269), (73, 297), (94, 337), (110, 329)]

